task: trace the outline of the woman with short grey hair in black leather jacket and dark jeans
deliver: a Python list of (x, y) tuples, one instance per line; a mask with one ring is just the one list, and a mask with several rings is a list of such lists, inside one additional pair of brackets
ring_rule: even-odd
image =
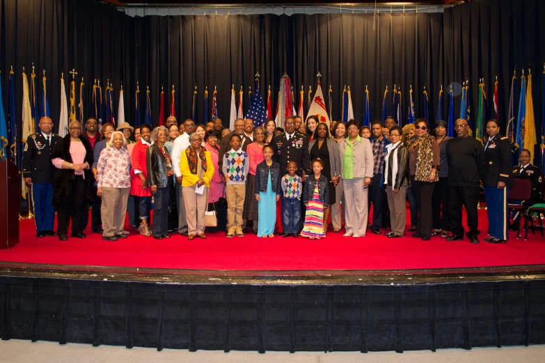
[(168, 239), (168, 191), (172, 185), (171, 155), (165, 147), (168, 130), (164, 126), (155, 127), (152, 131), (153, 144), (148, 147), (146, 168), (148, 177), (145, 181), (153, 194), (153, 224), (154, 239)]

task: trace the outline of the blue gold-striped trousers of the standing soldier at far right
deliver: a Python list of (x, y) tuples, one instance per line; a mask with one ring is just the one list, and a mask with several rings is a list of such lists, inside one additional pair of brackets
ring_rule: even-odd
[(509, 239), (509, 208), (507, 208), (509, 190), (509, 186), (503, 189), (493, 186), (484, 187), (490, 236), (505, 241)]

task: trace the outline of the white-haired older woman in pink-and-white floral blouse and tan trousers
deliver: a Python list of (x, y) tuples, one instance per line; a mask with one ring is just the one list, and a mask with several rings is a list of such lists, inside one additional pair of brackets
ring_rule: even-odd
[(102, 239), (125, 239), (123, 233), (127, 200), (131, 188), (131, 156), (124, 147), (127, 140), (122, 131), (113, 131), (109, 147), (100, 152), (97, 161), (97, 196), (102, 198)]

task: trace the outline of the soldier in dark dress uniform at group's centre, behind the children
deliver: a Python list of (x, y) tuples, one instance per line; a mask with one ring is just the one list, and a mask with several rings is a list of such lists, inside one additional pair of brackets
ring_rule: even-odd
[(295, 161), (298, 167), (296, 174), (305, 181), (306, 175), (311, 173), (306, 135), (295, 130), (294, 118), (286, 118), (284, 130), (272, 140), (273, 160), (280, 164), (281, 173), (286, 172), (288, 162)]

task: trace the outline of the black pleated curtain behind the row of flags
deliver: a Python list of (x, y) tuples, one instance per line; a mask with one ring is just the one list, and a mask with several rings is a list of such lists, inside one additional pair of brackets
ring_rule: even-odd
[(65, 73), (68, 92), (68, 72), (75, 68), (77, 85), (84, 77), (88, 106), (93, 79), (100, 79), (101, 86), (110, 79), (117, 113), (118, 92), (123, 82), (125, 117), (129, 122), (134, 120), (136, 82), (141, 90), (142, 120), (145, 89), (149, 86), (155, 124), (161, 85), (165, 90), (166, 113), (174, 85), (177, 118), (184, 120), (191, 115), (195, 84), (198, 120), (203, 120), (205, 86), (210, 92), (209, 102), (216, 86), (219, 117), (228, 124), (231, 84), (235, 84), (237, 91), (243, 86), (246, 111), (248, 86), (254, 87), (256, 72), (261, 75), (264, 101), (267, 86), (271, 86), (273, 109), (284, 72), (294, 84), (296, 102), (301, 85), (306, 99), (308, 86), (316, 89), (316, 74), (321, 72), (324, 93), (329, 84), (333, 88), (335, 120), (341, 115), (345, 84), (352, 90), (354, 115), (358, 119), (363, 118), (365, 111), (365, 86), (370, 91), (371, 115), (379, 117), (386, 83), (390, 108), (393, 85), (401, 87), (404, 118), (411, 86), (416, 115), (423, 115), (422, 91), (426, 87), (432, 121), (441, 85), (445, 90), (443, 118), (447, 118), (446, 91), (452, 83), (457, 115), (459, 84), (466, 77), (471, 82), (476, 116), (478, 79), (484, 77), (491, 115), (497, 75), (500, 122), (505, 125), (514, 67), (518, 107), (521, 67), (527, 70), (532, 65), (537, 127), (541, 124), (545, 24), (539, 19), (545, 19), (545, 6), (539, 0), (480, 0), (448, 8), (442, 14), (376, 17), (362, 14), (129, 17), (113, 6), (90, 0), (0, 0), (0, 3), (3, 102), (8, 102), (8, 72), (13, 65), (17, 115), (22, 104), (22, 63), (27, 73), (34, 63), (38, 90), (41, 90), (41, 70), (47, 72), (54, 121), (58, 120), (61, 71)]

